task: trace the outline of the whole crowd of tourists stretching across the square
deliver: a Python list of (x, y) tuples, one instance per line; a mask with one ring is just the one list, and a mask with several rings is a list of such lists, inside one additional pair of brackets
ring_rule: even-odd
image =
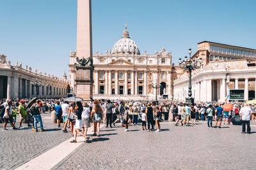
[[(8, 131), (6, 125), (10, 123), (13, 129), (24, 129), (23, 122), (38, 132), (45, 131), (41, 114), (45, 111), (54, 111), (58, 128), (63, 128), (63, 132), (68, 132), (70, 128), (74, 138), (72, 143), (77, 142), (77, 134), (84, 136), (88, 141), (88, 128), (93, 125), (93, 136), (100, 136), (100, 123), (106, 124), (106, 128), (113, 127), (120, 122), (124, 131), (129, 131), (129, 125), (141, 123), (142, 131), (161, 131), (161, 122), (173, 120), (175, 125), (196, 125), (196, 120), (206, 120), (208, 127), (219, 127), (221, 123), (232, 124), (232, 118), (239, 116), (245, 133), (250, 134), (250, 120), (256, 120), (255, 105), (246, 103), (233, 103), (232, 108), (223, 109), (224, 103), (198, 103), (189, 106), (185, 103), (157, 103), (156, 101), (93, 101), (93, 102), (74, 102), (65, 99), (42, 99), (27, 107), (28, 99), (14, 99), (0, 101), (0, 119), (4, 123), (3, 131)], [(19, 127), (16, 127), (17, 114), (20, 115)], [(215, 125), (212, 125), (215, 120)], [(172, 120), (171, 120), (172, 121)], [(63, 127), (61, 127), (63, 122)], [(25, 123), (23, 123), (25, 124)], [(32, 125), (31, 125), (32, 124)], [(219, 125), (218, 125), (219, 124)]]

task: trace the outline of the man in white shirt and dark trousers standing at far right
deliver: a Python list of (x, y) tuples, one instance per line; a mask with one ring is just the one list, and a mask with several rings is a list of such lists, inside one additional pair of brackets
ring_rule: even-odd
[(240, 110), (240, 117), (243, 121), (243, 131), (242, 133), (245, 134), (245, 124), (247, 125), (247, 133), (251, 133), (251, 127), (250, 127), (250, 119), (252, 117), (252, 109), (248, 107), (248, 104), (245, 103), (244, 107)]

